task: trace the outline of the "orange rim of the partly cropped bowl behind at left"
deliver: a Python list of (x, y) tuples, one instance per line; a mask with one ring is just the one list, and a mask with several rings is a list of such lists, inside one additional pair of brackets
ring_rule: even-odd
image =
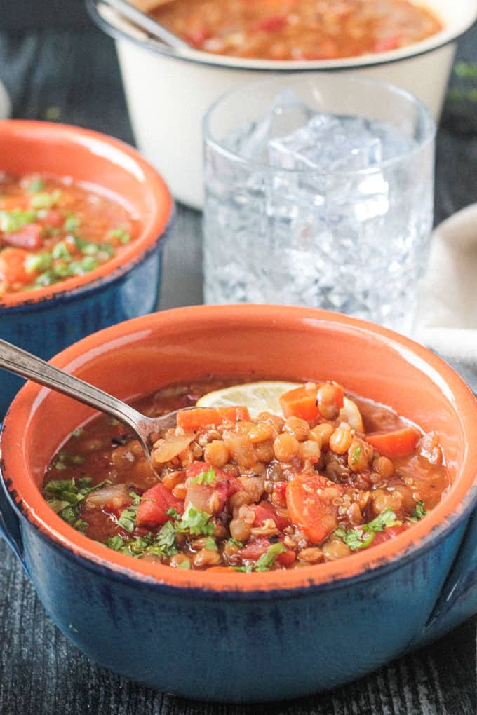
[[(137, 262), (142, 254), (151, 249), (164, 234), (172, 216), (172, 196), (161, 175), (149, 162), (143, 159), (134, 147), (129, 146), (129, 144), (122, 142), (120, 139), (114, 139), (114, 137), (94, 132), (91, 129), (31, 119), (6, 119), (0, 122), (0, 136), (5, 134), (10, 135), (13, 139), (14, 137), (24, 137), (26, 135), (37, 136), (40, 140), (45, 139), (45, 137), (46, 139), (56, 137), (56, 139), (64, 139), (70, 144), (81, 144), (84, 147), (87, 147), (88, 141), (94, 142), (96, 146), (99, 143), (112, 147), (118, 155), (122, 154), (127, 157), (128, 163), (132, 159), (136, 169), (139, 171), (141, 182), (144, 184), (144, 191), (149, 192), (151, 198), (154, 198), (156, 211), (152, 212), (147, 217), (147, 220), (144, 220), (144, 225), (139, 235), (119, 255), (112, 257), (98, 268), (94, 268), (94, 270), (84, 275), (67, 278), (67, 280), (54, 285), (35, 288), (34, 290), (6, 293), (0, 297), (0, 312), (8, 307), (34, 305), (49, 300), (56, 295), (76, 291), (82, 287), (94, 287), (93, 284), (97, 285), (97, 282), (102, 282), (109, 278), (114, 279), (114, 277), (117, 277), (118, 272), (124, 272), (128, 269), (129, 264)], [(51, 144), (54, 148), (54, 142), (51, 142)], [(54, 175), (54, 172), (51, 172), (51, 175)], [(92, 177), (91, 183), (95, 184), (94, 177)], [(102, 184), (96, 184), (96, 186), (99, 189), (102, 188)]]

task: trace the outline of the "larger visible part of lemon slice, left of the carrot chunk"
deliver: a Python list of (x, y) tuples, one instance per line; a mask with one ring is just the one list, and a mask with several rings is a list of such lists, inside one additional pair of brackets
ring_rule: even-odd
[(230, 407), (245, 405), (250, 417), (257, 417), (261, 412), (281, 415), (280, 395), (288, 390), (300, 387), (300, 383), (285, 383), (280, 380), (263, 380), (260, 383), (230, 385), (230, 388), (215, 390), (197, 400), (197, 407)]

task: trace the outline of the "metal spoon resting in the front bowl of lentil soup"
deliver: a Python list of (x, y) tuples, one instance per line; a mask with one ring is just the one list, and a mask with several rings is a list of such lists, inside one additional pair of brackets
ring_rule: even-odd
[[(84, 380), (75, 378), (74, 375), (70, 375), (64, 370), (54, 368), (53, 365), (37, 358), (36, 355), (31, 355), (30, 352), (21, 350), (20, 347), (11, 345), (6, 340), (0, 340), (0, 368), (33, 380), (34, 383), (45, 385), (57, 393), (68, 395), (68, 397), (79, 400), (95, 410), (105, 412), (126, 424), (136, 433), (149, 464), (151, 463), (152, 435), (174, 428), (177, 413), (182, 412), (182, 410), (176, 410), (162, 417), (146, 417), (122, 400), (95, 388), (94, 385), (85, 383)], [(152, 469), (154, 470), (153, 467)]]

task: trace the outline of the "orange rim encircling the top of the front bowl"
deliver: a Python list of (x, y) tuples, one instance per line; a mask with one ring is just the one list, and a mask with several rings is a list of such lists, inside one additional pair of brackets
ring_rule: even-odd
[[(415, 555), (416, 551), (430, 548), (438, 536), (443, 536), (443, 532), (456, 528), (466, 513), (470, 511), (473, 503), (477, 501), (476, 398), (466, 383), (441, 358), (412, 340), (383, 327), (338, 313), (282, 305), (185, 307), (134, 318), (101, 330), (59, 353), (51, 360), (51, 363), (58, 367), (68, 366), (74, 370), (88, 362), (88, 360), (82, 360), (84, 354), (95, 350), (96, 357), (102, 353), (102, 350), (107, 351), (108, 344), (110, 345), (112, 340), (116, 342), (122, 337), (129, 336), (131, 338), (134, 335), (144, 338), (151, 332), (151, 321), (160, 322), (162, 330), (167, 330), (168, 326), (177, 326), (178, 322), (183, 329), (192, 330), (197, 328), (201, 318), (208, 321), (215, 320), (224, 312), (227, 312), (227, 320), (236, 325), (240, 321), (250, 318), (252, 313), (255, 312), (258, 315), (260, 312), (262, 318), (266, 318), (270, 326), (280, 325), (284, 319), (295, 321), (299, 319), (303, 323), (309, 320), (321, 321), (328, 327), (333, 324), (350, 326), (365, 330), (374, 337), (380, 337), (384, 344), (394, 346), (404, 357), (407, 355), (417, 363), (423, 361), (426, 368), (438, 377), (442, 390), (448, 392), (448, 400), (452, 403), (454, 410), (457, 411), (458, 405), (461, 423), (466, 425), (466, 435), (474, 435), (473, 439), (466, 440), (463, 468), (454, 482), (453, 488), (443, 498), (443, 501), (434, 507), (425, 519), (415, 523), (399, 536), (385, 541), (369, 551), (359, 551), (350, 557), (316, 566), (243, 574), (233, 571), (185, 571), (167, 565), (147, 563), (130, 556), (124, 556), (87, 538), (64, 522), (46, 504), (39, 488), (27, 473), (25, 448), (24, 445), (20, 448), (20, 445), (23, 443), (24, 427), (31, 418), (31, 408), (34, 406), (37, 409), (39, 401), (41, 401), (40, 391), (44, 391), (44, 396), (50, 391), (33, 383), (27, 383), (14, 399), (4, 422), (6, 438), (11, 440), (11, 444), (18, 445), (18, 448), (3, 449), (2, 478), (4, 478), (6, 488), (9, 490), (17, 510), (44, 536), (74, 553), (75, 556), (86, 559), (91, 565), (96, 564), (107, 568), (112, 574), (115, 573), (118, 576), (135, 578), (162, 586), (199, 589), (204, 593), (207, 591), (212, 593), (232, 592), (238, 596), (240, 593), (295, 591), (300, 588), (335, 583), (360, 575), (370, 577), (373, 575), (372, 572), (380, 567), (402, 563), (399, 557), (411, 557)], [(78, 349), (78, 345), (80, 349)], [(91, 357), (92, 355), (89, 355), (89, 358)], [(4, 434), (2, 443), (5, 440)]]

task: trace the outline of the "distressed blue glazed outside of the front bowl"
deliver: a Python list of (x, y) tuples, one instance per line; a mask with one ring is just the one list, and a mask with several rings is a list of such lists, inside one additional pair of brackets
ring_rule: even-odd
[[(11, 521), (11, 504), (0, 506)], [(21, 558), (39, 598), (87, 656), (162, 691), (235, 702), (332, 688), (421, 646), (430, 618), (433, 633), (442, 635), (470, 616), (475, 601), (453, 601), (451, 580), (456, 574), (461, 582), (470, 568), (475, 583), (468, 551), (475, 529), (467, 516), (430, 547), (335, 583), (217, 594), (115, 573), (59, 546), (20, 515)], [(449, 609), (456, 607), (442, 623), (440, 593), (448, 594)], [(204, 648), (207, 657), (199, 657)]]

